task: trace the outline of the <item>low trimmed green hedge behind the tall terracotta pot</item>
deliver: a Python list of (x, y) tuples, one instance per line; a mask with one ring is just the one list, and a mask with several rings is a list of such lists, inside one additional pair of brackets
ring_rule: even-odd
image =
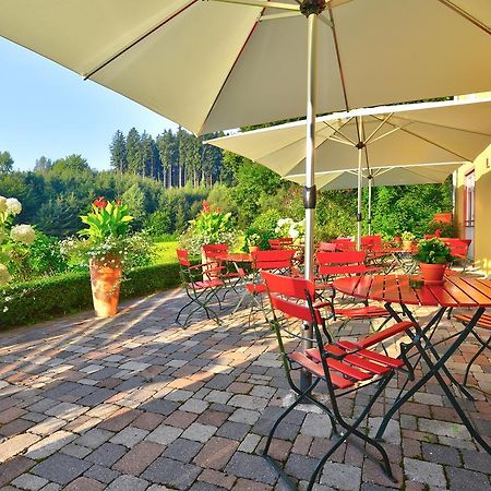
[[(125, 274), (121, 299), (143, 297), (179, 284), (178, 263), (136, 267)], [(88, 273), (17, 283), (0, 290), (0, 328), (34, 324), (91, 308)]]

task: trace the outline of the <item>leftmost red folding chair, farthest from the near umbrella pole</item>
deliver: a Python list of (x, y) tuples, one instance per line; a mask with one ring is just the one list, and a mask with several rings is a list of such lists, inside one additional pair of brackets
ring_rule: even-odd
[[(218, 307), (221, 308), (217, 294), (225, 284), (216, 276), (221, 271), (221, 267), (214, 267), (209, 263), (193, 265), (189, 260), (187, 250), (178, 249), (176, 252), (180, 265), (181, 280), (184, 285), (185, 295), (189, 298), (189, 302), (178, 312), (176, 323), (187, 327), (191, 316), (199, 310), (204, 309), (206, 316), (213, 319), (219, 325), (221, 321), (216, 312), (209, 307), (209, 303), (212, 298), (215, 298), (218, 301)], [(209, 277), (207, 275), (212, 276)], [(204, 279), (206, 277), (209, 277), (209, 279)], [(179, 318), (185, 309), (192, 306), (193, 308), (188, 313), (184, 323), (181, 324)]]

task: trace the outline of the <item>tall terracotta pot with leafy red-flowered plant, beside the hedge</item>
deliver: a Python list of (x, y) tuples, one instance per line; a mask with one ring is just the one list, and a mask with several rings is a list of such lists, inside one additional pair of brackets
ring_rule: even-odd
[(133, 217), (128, 206), (101, 196), (94, 201), (91, 213), (81, 219), (87, 225), (79, 233), (87, 237), (94, 310), (98, 318), (116, 315), (125, 240)]

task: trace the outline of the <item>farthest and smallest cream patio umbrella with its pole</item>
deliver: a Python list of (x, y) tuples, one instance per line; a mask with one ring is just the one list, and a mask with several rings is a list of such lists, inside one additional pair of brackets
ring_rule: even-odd
[[(368, 235), (371, 235), (372, 188), (380, 185), (414, 185), (442, 183), (463, 163), (427, 164), (395, 167), (371, 167), (361, 171), (361, 187), (368, 188)], [(289, 180), (303, 184), (304, 176), (289, 176)], [(316, 172), (320, 190), (354, 189), (358, 187), (358, 169)]]

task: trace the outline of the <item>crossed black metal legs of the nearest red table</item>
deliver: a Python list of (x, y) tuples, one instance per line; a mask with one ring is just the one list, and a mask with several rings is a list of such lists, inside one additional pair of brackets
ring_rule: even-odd
[[(428, 356), (428, 354), (424, 351), (424, 348), (419, 343), (419, 339), (415, 336), (415, 346), (419, 350), (421, 357), (424, 359), (429, 367), (429, 371), (411, 387), (407, 391), (406, 394), (400, 396), (394, 405), (388, 409), (387, 414), (385, 415), (384, 419), (382, 420), (382, 423), (376, 432), (375, 439), (381, 439), (388, 421), (392, 419), (394, 414), (407, 402), (409, 398), (411, 398), (416, 392), (418, 392), (429, 380), (431, 380), (433, 376), (438, 380), (439, 384), (441, 385), (443, 392), (447, 396), (448, 400), (451, 402), (452, 406), (454, 406), (454, 409), (457, 411), (462, 422), (469, 431), (470, 435), (484, 448), (488, 454), (491, 455), (491, 447), (489, 444), (481, 438), (481, 435), (476, 431), (472, 423), (467, 418), (467, 415), (462, 409), (460, 405), (458, 404), (457, 399), (455, 398), (454, 394), (443, 380), (442, 375), (439, 373), (439, 371), (444, 367), (445, 362), (450, 359), (450, 357), (456, 351), (456, 349), (464, 343), (464, 340), (467, 338), (469, 333), (472, 331), (476, 323), (479, 321), (481, 315), (484, 312), (484, 308), (479, 308), (476, 313), (474, 314), (471, 321), (467, 324), (467, 326), (463, 330), (463, 332), (457, 336), (454, 344), (438, 359), (436, 363), (433, 363)], [(441, 311), (439, 311), (440, 313)], [(438, 315), (438, 314), (436, 314)], [(436, 316), (435, 315), (435, 316)], [(434, 319), (434, 318), (433, 318)], [(431, 322), (431, 321), (430, 321)], [(424, 331), (424, 330), (422, 330)]]

